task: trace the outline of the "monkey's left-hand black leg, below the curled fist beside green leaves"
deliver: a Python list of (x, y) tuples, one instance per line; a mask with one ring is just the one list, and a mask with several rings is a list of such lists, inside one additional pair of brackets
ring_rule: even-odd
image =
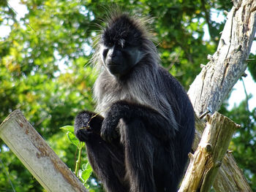
[(116, 147), (94, 135), (86, 142), (86, 150), (95, 174), (102, 181), (108, 192), (128, 192), (128, 184), (124, 181), (124, 153), (121, 145)]

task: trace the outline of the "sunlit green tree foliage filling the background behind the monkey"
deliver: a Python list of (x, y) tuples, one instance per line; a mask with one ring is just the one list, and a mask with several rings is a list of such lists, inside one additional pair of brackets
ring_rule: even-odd
[[(9, 7), (7, 0), (0, 1), (0, 27), (10, 28), (10, 34), (0, 37), (0, 122), (13, 110), (20, 109), (73, 169), (78, 142), (70, 134), (71, 127), (66, 128), (75, 145), (67, 142), (59, 127), (72, 125), (75, 115), (83, 109), (94, 110), (91, 88), (96, 75), (89, 61), (98, 26), (102, 25), (106, 7), (113, 5), (113, 1), (20, 0), (20, 3), (28, 12), (19, 19), (19, 9)], [(115, 4), (131, 13), (153, 17), (151, 27), (162, 65), (186, 89), (200, 72), (200, 64), (206, 64), (207, 55), (217, 47), (223, 23), (215, 22), (211, 12), (232, 7), (231, 1), (221, 0), (118, 0)], [(206, 26), (210, 39), (203, 39)], [(249, 61), (249, 71), (256, 77), (253, 61)], [(255, 111), (246, 112), (239, 107), (240, 110), (226, 111), (244, 128), (236, 134), (231, 147), (255, 189)], [(80, 175), (85, 181), (91, 171), (83, 154)], [(43, 191), (2, 141), (0, 158), (3, 162), (0, 191), (12, 191), (4, 168), (15, 191)], [(88, 183), (90, 191), (102, 191), (94, 174)]]

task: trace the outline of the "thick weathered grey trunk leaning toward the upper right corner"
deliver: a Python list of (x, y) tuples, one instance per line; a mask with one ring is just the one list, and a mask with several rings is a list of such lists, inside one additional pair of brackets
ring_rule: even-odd
[(217, 52), (209, 55), (188, 94), (199, 116), (219, 110), (233, 85), (244, 74), (256, 29), (256, 1), (238, 1), (227, 15)]

